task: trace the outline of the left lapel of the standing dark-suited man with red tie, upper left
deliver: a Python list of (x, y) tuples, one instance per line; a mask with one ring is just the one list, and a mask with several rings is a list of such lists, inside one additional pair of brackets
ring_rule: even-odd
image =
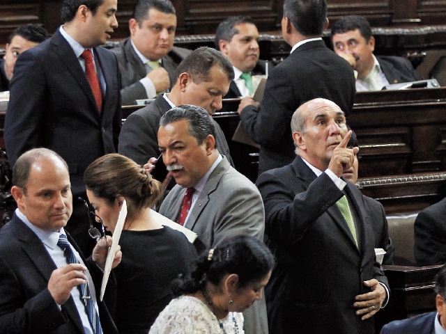
[[(89, 81), (86, 79), (84, 70), (82, 70), (79, 59), (77, 59), (75, 52), (72, 51), (71, 46), (68, 44), (67, 40), (63, 38), (59, 29), (54, 33), (51, 42), (54, 46), (54, 52), (61, 59), (61, 63), (66, 66), (68, 72), (75, 78), (75, 81), (79, 84), (80, 88), (83, 90), (86, 97), (89, 98), (90, 103), (95, 106), (95, 110), (97, 111), (98, 106), (96, 106), (93, 91), (91, 90)], [(96, 113), (95, 117), (99, 119), (99, 113)]]

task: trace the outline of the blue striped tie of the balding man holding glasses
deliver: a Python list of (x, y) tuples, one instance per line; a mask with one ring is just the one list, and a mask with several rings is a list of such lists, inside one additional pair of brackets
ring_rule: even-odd
[[(57, 246), (59, 246), (63, 250), (63, 255), (65, 255), (65, 257), (67, 258), (68, 264), (79, 264), (79, 260), (77, 260), (76, 255), (72, 253), (70, 243), (68, 242), (67, 236), (65, 234), (61, 234), (59, 236)], [(85, 284), (77, 285), (77, 288), (81, 293), (81, 299), (85, 306), (85, 312), (89, 316), (89, 321), (91, 328), (93, 329), (93, 333), (102, 334), (102, 327), (100, 326), (99, 315), (98, 312), (96, 312), (93, 301), (91, 300), (88, 280), (86, 280)]]

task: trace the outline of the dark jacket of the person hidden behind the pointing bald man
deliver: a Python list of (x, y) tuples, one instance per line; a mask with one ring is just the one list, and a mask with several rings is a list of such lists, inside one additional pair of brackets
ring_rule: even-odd
[(362, 196), (366, 209), (366, 221), (371, 221), (375, 236), (375, 248), (383, 248), (385, 255), (383, 264), (393, 264), (395, 247), (389, 237), (389, 227), (383, 205), (373, 198)]

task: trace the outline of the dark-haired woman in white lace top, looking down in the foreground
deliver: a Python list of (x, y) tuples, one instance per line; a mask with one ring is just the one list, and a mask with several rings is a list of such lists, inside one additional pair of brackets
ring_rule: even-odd
[(268, 247), (239, 235), (205, 252), (185, 278), (172, 283), (177, 298), (149, 334), (242, 334), (243, 312), (261, 298), (275, 260)]

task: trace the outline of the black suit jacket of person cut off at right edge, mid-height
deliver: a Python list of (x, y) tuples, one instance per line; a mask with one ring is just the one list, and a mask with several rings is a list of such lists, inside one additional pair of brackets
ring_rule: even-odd
[(414, 239), (417, 266), (446, 263), (446, 198), (418, 214)]

